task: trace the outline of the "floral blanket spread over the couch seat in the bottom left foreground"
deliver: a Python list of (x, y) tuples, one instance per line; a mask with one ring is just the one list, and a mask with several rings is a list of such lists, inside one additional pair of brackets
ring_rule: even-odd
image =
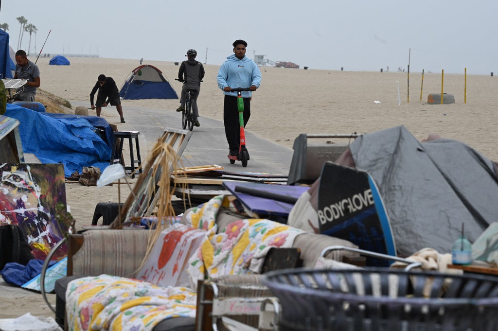
[(70, 331), (148, 331), (161, 321), (195, 317), (196, 293), (110, 275), (71, 281), (66, 291)]

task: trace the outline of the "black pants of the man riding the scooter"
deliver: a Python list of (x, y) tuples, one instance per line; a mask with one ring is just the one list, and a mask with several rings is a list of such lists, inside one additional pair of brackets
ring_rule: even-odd
[[(244, 98), (244, 127), (250, 117), (250, 98)], [(225, 96), (223, 104), (223, 122), (225, 123), (225, 135), (228, 147), (232, 152), (239, 152), (239, 140), (241, 139), (239, 125), (239, 109), (237, 108), (237, 97)]]

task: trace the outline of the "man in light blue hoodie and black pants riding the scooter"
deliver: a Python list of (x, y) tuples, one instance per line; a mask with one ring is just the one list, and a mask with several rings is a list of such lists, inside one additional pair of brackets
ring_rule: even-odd
[(239, 110), (237, 107), (237, 93), (231, 92), (232, 88), (249, 88), (243, 91), (244, 98), (244, 127), (250, 117), (250, 100), (252, 91), (256, 91), (261, 83), (261, 72), (257, 64), (246, 56), (248, 43), (236, 40), (233, 43), (234, 54), (227, 57), (218, 71), (218, 87), (223, 91), (225, 100), (223, 104), (223, 121), (225, 135), (227, 136), (230, 155), (239, 155)]

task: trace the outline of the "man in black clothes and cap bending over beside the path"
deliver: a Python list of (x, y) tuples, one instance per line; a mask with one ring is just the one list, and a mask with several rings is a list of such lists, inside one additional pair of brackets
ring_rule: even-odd
[[(99, 93), (97, 94), (97, 105), (94, 105), (94, 95), (97, 90), (99, 90)], [(92, 110), (97, 108), (97, 116), (100, 116), (102, 107), (107, 107), (108, 104), (111, 104), (111, 106), (116, 106), (116, 110), (118, 110), (118, 113), (121, 117), (121, 122), (124, 123), (120, 92), (118, 90), (118, 87), (116, 86), (116, 82), (111, 77), (106, 77), (106, 75), (99, 75), (98, 81), (92, 89), (92, 92), (90, 93), (90, 104), (92, 106)]]

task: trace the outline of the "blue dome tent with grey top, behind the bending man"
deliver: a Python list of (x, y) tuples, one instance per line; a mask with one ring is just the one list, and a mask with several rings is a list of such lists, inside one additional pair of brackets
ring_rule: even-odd
[(123, 99), (178, 99), (162, 72), (144, 64), (133, 69), (120, 90)]

